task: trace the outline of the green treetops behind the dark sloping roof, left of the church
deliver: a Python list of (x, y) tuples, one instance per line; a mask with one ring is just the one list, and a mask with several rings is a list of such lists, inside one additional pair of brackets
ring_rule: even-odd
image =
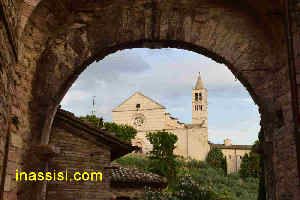
[[(97, 128), (101, 128), (101, 118), (98, 118), (96, 115), (86, 115), (79, 117), (79, 119), (88, 122)], [(105, 122), (104, 127), (107, 131), (115, 133), (117, 137), (126, 142), (131, 142), (137, 133), (137, 130), (132, 126), (118, 125), (114, 122)]]

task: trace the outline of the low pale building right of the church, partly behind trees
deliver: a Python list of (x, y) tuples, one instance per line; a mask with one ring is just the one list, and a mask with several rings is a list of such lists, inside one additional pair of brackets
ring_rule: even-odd
[(210, 149), (218, 148), (222, 151), (227, 162), (227, 173), (238, 172), (241, 167), (243, 156), (251, 151), (251, 145), (233, 145), (231, 140), (225, 139), (224, 144), (210, 143)]

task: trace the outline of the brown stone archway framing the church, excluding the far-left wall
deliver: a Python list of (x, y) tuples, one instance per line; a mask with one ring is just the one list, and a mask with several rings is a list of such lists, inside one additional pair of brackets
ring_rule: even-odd
[[(26, 132), (21, 137), (28, 148), (47, 144), (69, 87), (109, 53), (134, 47), (191, 50), (226, 64), (247, 88), (261, 113), (269, 198), (296, 198), (299, 175), (284, 38), (248, 8), (209, 0), (40, 1), (21, 20), (18, 70), (27, 71), (20, 85), (28, 92), (18, 94), (25, 102), (18, 134)], [(27, 152), (22, 150), (23, 160)], [(20, 196), (26, 199), (31, 192)]]

